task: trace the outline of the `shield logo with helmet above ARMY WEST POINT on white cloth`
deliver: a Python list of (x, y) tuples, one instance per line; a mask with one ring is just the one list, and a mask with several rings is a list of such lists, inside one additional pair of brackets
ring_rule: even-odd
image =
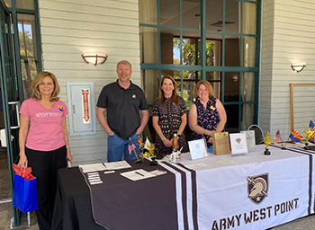
[(259, 205), (268, 196), (269, 173), (247, 177), (247, 194), (254, 204)]

